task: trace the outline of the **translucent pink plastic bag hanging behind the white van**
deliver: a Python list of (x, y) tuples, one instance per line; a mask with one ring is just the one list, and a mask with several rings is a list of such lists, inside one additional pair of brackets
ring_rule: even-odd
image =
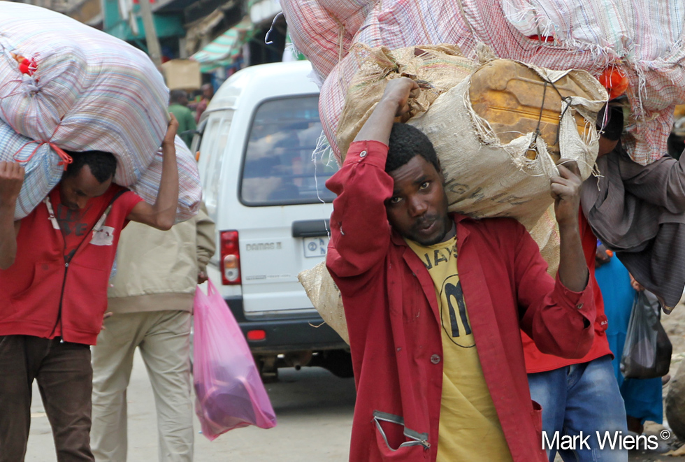
[(276, 425), (243, 332), (212, 281), (195, 291), (195, 413), (210, 441), (233, 428)]

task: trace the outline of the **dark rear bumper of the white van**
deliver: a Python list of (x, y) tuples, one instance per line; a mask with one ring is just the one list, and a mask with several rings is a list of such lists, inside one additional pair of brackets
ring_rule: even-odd
[[(243, 312), (243, 298), (225, 298), (233, 316), (247, 338), (248, 331), (266, 332), (264, 340), (247, 340), (254, 354), (282, 354), (296, 351), (321, 351), (324, 349), (349, 349), (331, 326), (324, 324), (319, 315), (247, 319)], [(318, 327), (317, 327), (318, 326)]]

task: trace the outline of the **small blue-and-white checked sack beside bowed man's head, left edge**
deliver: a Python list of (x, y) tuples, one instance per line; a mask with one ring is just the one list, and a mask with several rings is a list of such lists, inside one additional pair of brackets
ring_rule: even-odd
[(14, 219), (22, 219), (43, 201), (62, 178), (64, 168), (50, 145), (38, 145), (0, 120), (0, 161), (21, 161), (24, 184), (17, 198)]

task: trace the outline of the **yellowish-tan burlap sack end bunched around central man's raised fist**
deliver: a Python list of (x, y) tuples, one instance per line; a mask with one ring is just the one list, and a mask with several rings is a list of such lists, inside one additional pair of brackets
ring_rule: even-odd
[(422, 89), (416, 99), (409, 101), (410, 110), (403, 119), (406, 121), (425, 113), (438, 96), (468, 77), (476, 65), (454, 45), (417, 45), (398, 50), (355, 45), (354, 53), (359, 70), (347, 88), (336, 134), (343, 159), (349, 143), (383, 96), (389, 80), (409, 77)]

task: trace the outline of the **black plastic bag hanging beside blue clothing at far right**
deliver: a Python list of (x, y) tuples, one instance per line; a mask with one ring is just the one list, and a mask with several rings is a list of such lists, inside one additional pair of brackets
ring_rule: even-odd
[(653, 379), (668, 374), (673, 347), (659, 317), (661, 305), (645, 291), (635, 294), (626, 343), (621, 355), (621, 373), (626, 379)]

